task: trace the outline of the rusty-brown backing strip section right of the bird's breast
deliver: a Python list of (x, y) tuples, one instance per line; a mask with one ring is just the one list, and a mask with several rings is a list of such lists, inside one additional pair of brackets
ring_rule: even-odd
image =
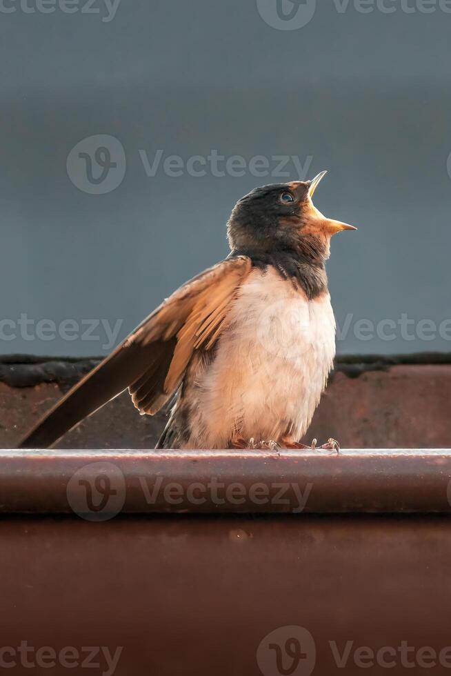
[(343, 448), (448, 448), (451, 366), (392, 366), (349, 378), (338, 372), (324, 393), (308, 437)]

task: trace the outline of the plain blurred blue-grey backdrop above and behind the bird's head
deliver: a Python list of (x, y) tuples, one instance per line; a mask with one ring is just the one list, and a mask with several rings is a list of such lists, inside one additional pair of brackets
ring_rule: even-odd
[[(109, 352), (227, 255), (241, 195), (299, 178), (291, 160), (288, 177), (252, 175), (284, 155), (328, 169), (315, 203), (359, 226), (328, 263), (339, 352), (450, 350), (451, 3), (279, 1), (285, 19), (276, 0), (121, 0), (114, 16), (105, 0), (3, 0), (1, 354)], [(113, 137), (100, 164), (96, 135)], [(243, 175), (163, 167), (211, 150)]]

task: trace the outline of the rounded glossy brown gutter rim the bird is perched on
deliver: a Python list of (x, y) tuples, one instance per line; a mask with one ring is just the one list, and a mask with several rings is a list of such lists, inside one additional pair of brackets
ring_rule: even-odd
[(450, 513), (451, 450), (3, 450), (0, 513)]

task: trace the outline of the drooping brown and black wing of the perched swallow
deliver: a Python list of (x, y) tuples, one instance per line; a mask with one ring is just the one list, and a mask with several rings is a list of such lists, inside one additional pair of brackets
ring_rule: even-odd
[(126, 388), (141, 413), (156, 413), (179, 386), (194, 350), (209, 350), (214, 345), (230, 301), (250, 268), (248, 257), (237, 256), (181, 286), (81, 379), (18, 448), (52, 446)]

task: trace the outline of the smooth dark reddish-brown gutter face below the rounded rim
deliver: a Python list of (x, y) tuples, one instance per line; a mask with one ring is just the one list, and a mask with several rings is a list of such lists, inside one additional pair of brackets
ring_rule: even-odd
[[(288, 626), (311, 637), (300, 676), (419, 674), (419, 650), (451, 644), (448, 517), (17, 517), (0, 538), (1, 646), (121, 646), (114, 676), (280, 676), (260, 667)], [(351, 642), (344, 668), (331, 642)], [(391, 648), (395, 668), (362, 668), (362, 646)], [(106, 668), (9, 673), (85, 671)]]

